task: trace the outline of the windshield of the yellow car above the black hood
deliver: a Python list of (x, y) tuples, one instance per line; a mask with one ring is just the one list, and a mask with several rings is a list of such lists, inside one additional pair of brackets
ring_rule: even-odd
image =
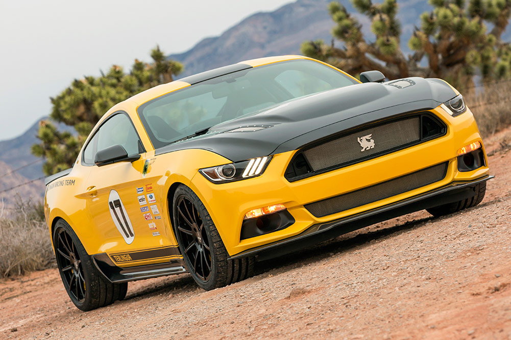
[(155, 149), (301, 96), (358, 84), (311, 60), (290, 60), (213, 78), (138, 108)]

